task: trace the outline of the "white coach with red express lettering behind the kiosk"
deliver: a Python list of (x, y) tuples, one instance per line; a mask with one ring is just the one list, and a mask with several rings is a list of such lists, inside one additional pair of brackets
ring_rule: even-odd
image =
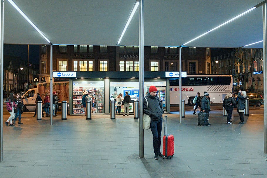
[[(214, 103), (222, 103), (225, 95), (233, 90), (233, 77), (231, 75), (187, 75), (182, 78), (182, 99), (185, 104), (195, 105), (193, 99), (197, 92), (209, 98)], [(179, 104), (179, 78), (170, 78), (170, 105)]]

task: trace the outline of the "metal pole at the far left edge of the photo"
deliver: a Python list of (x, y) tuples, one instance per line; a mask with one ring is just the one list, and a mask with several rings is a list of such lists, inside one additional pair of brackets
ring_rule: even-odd
[(1, 24), (0, 24), (0, 162), (3, 161), (3, 80), (4, 80), (4, 1), (1, 0)]

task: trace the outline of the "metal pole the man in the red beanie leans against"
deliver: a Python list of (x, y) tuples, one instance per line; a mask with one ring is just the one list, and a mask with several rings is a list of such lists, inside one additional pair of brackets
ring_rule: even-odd
[(144, 103), (144, 0), (139, 0), (139, 157), (144, 157), (143, 103)]

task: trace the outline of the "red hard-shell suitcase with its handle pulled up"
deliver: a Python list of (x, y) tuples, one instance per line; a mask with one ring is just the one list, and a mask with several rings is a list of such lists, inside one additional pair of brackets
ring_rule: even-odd
[(163, 137), (163, 159), (172, 159), (174, 154), (174, 137), (171, 134), (166, 135), (167, 132), (167, 116), (165, 116), (164, 122), (164, 137)]

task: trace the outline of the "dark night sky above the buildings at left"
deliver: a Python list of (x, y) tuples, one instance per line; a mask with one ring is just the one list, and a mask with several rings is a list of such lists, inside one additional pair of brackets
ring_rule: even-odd
[[(29, 45), (29, 62), (39, 64), (39, 45)], [(21, 57), (22, 60), (28, 60), (28, 45), (4, 45), (4, 56)]]

